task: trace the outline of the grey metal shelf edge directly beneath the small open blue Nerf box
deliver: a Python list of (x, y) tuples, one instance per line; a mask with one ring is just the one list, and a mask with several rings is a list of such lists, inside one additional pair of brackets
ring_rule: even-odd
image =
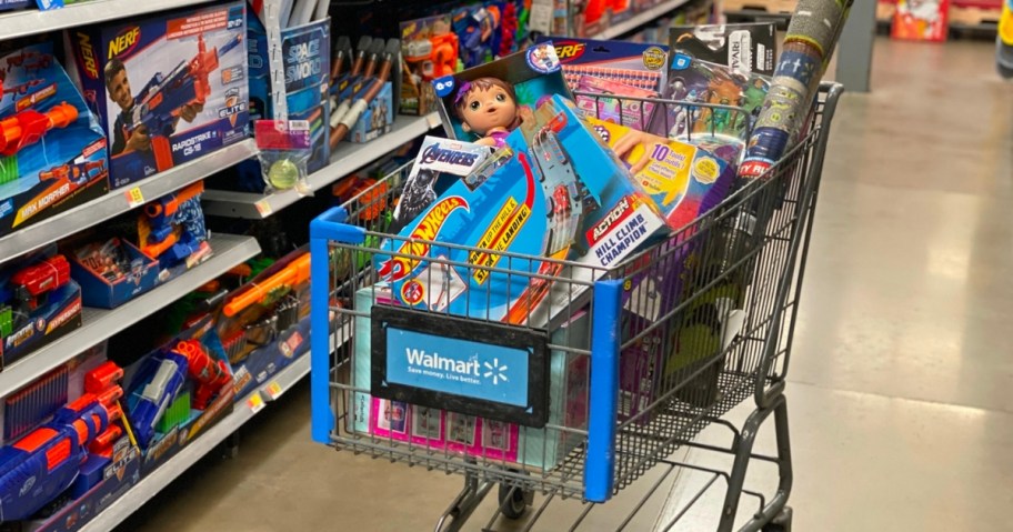
[(18, 390), (260, 253), (260, 244), (252, 237), (213, 234), (211, 248), (214, 254), (208, 261), (128, 303), (116, 309), (84, 307), (81, 328), (4, 368), (0, 372), (0, 390)]

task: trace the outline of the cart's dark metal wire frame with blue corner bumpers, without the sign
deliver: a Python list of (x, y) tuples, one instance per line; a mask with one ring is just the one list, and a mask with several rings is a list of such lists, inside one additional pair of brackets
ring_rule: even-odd
[[(788, 500), (793, 470), (785, 374), (830, 123), (841, 92), (840, 84), (821, 86), (804, 134), (762, 179), (611, 269), (505, 252), (495, 252), (500, 255), (497, 264), (480, 267), (435, 255), (433, 250), (483, 250), (388, 234), (383, 213), (397, 201), (405, 168), (345, 205), (325, 212), (311, 224), (312, 327), (313, 331), (330, 332), (311, 338), (314, 440), (338, 450), (462, 474), (464, 488), (439, 516), (438, 531), (460, 530), (495, 486), (500, 504), (482, 530), (505, 523), (501, 516), (510, 521), (524, 518), (513, 522), (511, 530), (533, 530), (550, 503), (559, 499), (583, 505), (570, 530), (582, 525), (601, 530), (600, 523), (588, 524), (592, 510), (655, 470), (661, 471), (660, 476), (646, 486), (646, 494), (633, 504), (616, 530), (630, 524), (673, 472), (695, 470), (710, 475), (703, 490), (672, 522), (658, 523), (658, 528), (675, 526), (689, 506), (724, 480), (726, 494), (718, 530), (733, 530), (742, 494), (746, 494), (758, 499), (759, 505), (739, 530), (790, 531)], [(712, 108), (710, 112), (725, 109), (661, 100), (654, 104), (684, 106), (691, 113), (706, 107)], [(477, 452), (451, 449), (451, 424), (464, 418), (451, 418), (455, 414), (449, 412), (435, 413), (441, 444), (420, 443), (413, 435), (400, 440), (392, 430), (378, 435), (372, 425), (361, 430), (357, 423), (363, 422), (363, 414), (355, 410), (355, 403), (368, 398), (371, 390), (357, 380), (357, 364), (363, 363), (357, 353), (368, 349), (357, 343), (367, 339), (353, 331), (360, 324), (358, 320), (370, 318), (371, 310), (355, 301), (357, 297), (377, 301), (378, 291), (382, 291), (377, 284), (378, 257), (425, 261), (427, 285), (439, 288), (442, 282), (445, 293), (452, 283), (447, 272), (474, 274), (485, 270), (483, 274), (499, 275), (508, 285), (520, 282), (532, 290), (550, 287), (566, 294), (564, 304), (550, 304), (548, 322), (535, 322), (528, 314), (513, 327), (542, 331), (551, 338), (549, 349), (553, 360), (563, 361), (560, 368), (568, 382), (568, 388), (560, 390), (578, 391), (576, 408), (569, 402), (565, 412), (558, 408), (555, 418), (550, 418), (543, 429), (470, 421), (503, 431), (497, 438), (505, 433), (510, 440), (509, 434), (515, 431), (516, 441), (508, 446), (516, 455), (508, 455), (505, 450), (491, 454), (488, 445), (480, 445)], [(434, 283), (433, 271), (438, 278), (443, 272), (448, 280), (437, 279)], [(468, 298), (478, 303), (483, 294), (468, 292)], [(430, 312), (445, 314), (447, 310), (433, 304)], [(576, 323), (585, 314), (590, 325), (582, 333)], [(477, 323), (498, 321), (488, 313), (468, 319)], [(334, 344), (339, 345), (337, 350)], [(755, 408), (741, 428), (722, 419), (751, 395)], [(380, 408), (369, 401), (370, 408)], [(387, 404), (387, 410), (382, 414), (372, 411), (374, 416), (405, 423), (409, 415), (412, 420), (433, 415), (429, 410), (420, 413), (418, 406), (378, 404)], [(398, 408), (400, 413), (395, 412)], [(756, 434), (771, 415), (775, 456), (753, 452)], [(474, 429), (461, 423), (453, 426)], [(731, 445), (694, 442), (706, 426), (726, 428), (732, 434)], [(415, 434), (411, 432), (414, 429), (404, 430), (404, 434)], [(480, 439), (489, 434), (477, 429), (472, 433)], [(681, 463), (672, 458), (680, 446), (728, 454), (733, 458), (732, 466), (723, 470)], [(528, 453), (531, 449), (541, 454)], [(779, 485), (772, 495), (745, 488), (753, 461), (776, 465)], [(543, 500), (538, 509), (528, 511), (535, 493)]]

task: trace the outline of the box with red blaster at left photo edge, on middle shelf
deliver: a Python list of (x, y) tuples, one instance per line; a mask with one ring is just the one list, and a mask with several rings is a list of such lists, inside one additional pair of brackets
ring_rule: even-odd
[(0, 268), (2, 365), (81, 327), (81, 287), (70, 262), (53, 250)]

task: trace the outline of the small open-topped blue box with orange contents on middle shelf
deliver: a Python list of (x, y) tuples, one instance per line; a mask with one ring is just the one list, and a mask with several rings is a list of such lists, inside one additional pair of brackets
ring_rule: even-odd
[(113, 238), (73, 252), (70, 274), (88, 307), (114, 309), (159, 282), (159, 262), (130, 242)]

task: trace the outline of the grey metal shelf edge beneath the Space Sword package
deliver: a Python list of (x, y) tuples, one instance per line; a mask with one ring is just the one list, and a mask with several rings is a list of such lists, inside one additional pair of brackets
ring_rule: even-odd
[[(310, 189), (315, 192), (439, 126), (440, 117), (437, 113), (424, 117), (398, 116), (390, 133), (364, 144), (342, 143), (331, 154), (331, 163), (328, 167), (310, 174)], [(302, 197), (295, 190), (268, 195), (208, 190), (201, 199), (205, 214), (259, 220), (295, 203)]]

